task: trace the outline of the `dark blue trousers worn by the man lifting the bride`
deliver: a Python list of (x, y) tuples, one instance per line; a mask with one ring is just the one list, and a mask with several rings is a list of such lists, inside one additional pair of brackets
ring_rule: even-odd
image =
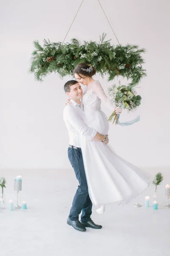
[(88, 195), (88, 184), (85, 176), (85, 168), (82, 159), (81, 148), (68, 148), (68, 159), (74, 169), (79, 186), (76, 194), (74, 195), (72, 207), (70, 210), (69, 218), (72, 221), (79, 219), (79, 214), (82, 211), (81, 221), (86, 222), (90, 219), (92, 202)]

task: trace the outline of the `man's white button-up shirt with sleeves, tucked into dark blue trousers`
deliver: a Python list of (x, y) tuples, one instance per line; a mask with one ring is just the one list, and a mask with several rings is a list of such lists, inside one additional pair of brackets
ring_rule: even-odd
[(65, 106), (63, 119), (68, 129), (70, 138), (69, 144), (77, 148), (81, 148), (80, 134), (92, 140), (97, 131), (87, 127), (83, 121), (82, 106), (80, 106), (74, 100), (71, 100), (72, 104)]

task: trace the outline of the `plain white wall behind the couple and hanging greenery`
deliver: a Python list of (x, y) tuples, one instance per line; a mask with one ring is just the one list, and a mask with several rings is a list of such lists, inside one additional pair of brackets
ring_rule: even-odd
[[(0, 169), (70, 168), (68, 134), (62, 120), (64, 83), (51, 74), (42, 83), (28, 74), (32, 41), (62, 41), (81, 0), (7, 0), (0, 8)], [(147, 77), (138, 92), (141, 121), (111, 125), (116, 152), (138, 166), (170, 166), (170, 1), (101, 0), (121, 44), (139, 44)], [(3, 26), (2, 26), (3, 24)], [(85, 0), (66, 41), (116, 39), (97, 0)], [(105, 90), (112, 82), (96, 76)], [(107, 112), (108, 113), (108, 112)], [(109, 114), (109, 113), (108, 113)]]

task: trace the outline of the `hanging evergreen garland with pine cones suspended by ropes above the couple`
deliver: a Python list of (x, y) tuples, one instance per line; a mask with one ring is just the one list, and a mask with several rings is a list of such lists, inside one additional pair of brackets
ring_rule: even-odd
[(142, 68), (144, 59), (137, 45), (113, 46), (111, 40), (105, 41), (106, 34), (100, 36), (99, 43), (84, 41), (81, 44), (73, 38), (71, 43), (51, 43), (44, 40), (43, 47), (34, 41), (35, 50), (32, 53), (30, 73), (34, 73), (37, 81), (42, 81), (49, 73), (58, 73), (61, 77), (73, 75), (74, 67), (85, 62), (96, 67), (97, 73), (107, 74), (111, 81), (115, 76), (123, 76), (131, 80), (135, 86), (146, 70)]

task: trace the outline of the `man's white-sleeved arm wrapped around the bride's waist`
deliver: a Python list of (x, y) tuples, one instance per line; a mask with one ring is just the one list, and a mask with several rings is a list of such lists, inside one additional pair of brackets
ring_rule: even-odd
[(67, 120), (82, 136), (87, 137), (89, 140), (102, 141), (105, 138), (104, 135), (99, 134), (96, 130), (85, 125), (76, 108), (66, 107), (64, 109), (64, 119)]

